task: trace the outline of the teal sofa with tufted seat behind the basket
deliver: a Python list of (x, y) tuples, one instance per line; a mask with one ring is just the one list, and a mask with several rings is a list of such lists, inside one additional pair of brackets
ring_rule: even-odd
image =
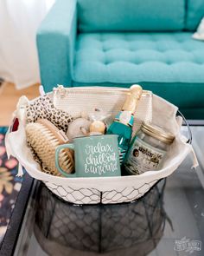
[(143, 85), (204, 118), (204, 0), (57, 0), (37, 32), (41, 83)]

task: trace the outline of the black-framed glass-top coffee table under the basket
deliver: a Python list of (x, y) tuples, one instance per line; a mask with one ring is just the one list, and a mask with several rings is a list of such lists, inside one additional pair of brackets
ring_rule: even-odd
[(0, 255), (204, 255), (204, 128), (191, 128), (200, 167), (189, 155), (136, 202), (67, 204), (26, 175)]

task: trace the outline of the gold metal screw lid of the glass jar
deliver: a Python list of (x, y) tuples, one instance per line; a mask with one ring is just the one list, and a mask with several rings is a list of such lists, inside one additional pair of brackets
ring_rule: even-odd
[(141, 126), (141, 129), (145, 134), (150, 135), (158, 139), (159, 141), (163, 141), (164, 143), (167, 144), (171, 144), (175, 139), (174, 135), (150, 122), (144, 121)]

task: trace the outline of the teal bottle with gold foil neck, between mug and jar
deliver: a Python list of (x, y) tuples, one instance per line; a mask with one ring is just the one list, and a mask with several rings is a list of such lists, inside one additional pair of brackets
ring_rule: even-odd
[(134, 123), (134, 112), (137, 103), (143, 93), (139, 85), (132, 85), (130, 95), (127, 96), (122, 110), (116, 115), (111, 126), (107, 129), (107, 134), (118, 135), (118, 148), (120, 151), (120, 163), (124, 161), (125, 154), (131, 142), (131, 131)]

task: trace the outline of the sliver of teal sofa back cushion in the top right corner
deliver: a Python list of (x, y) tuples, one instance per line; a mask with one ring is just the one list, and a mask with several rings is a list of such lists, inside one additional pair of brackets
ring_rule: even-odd
[(186, 29), (196, 30), (204, 16), (204, 0), (187, 0)]

